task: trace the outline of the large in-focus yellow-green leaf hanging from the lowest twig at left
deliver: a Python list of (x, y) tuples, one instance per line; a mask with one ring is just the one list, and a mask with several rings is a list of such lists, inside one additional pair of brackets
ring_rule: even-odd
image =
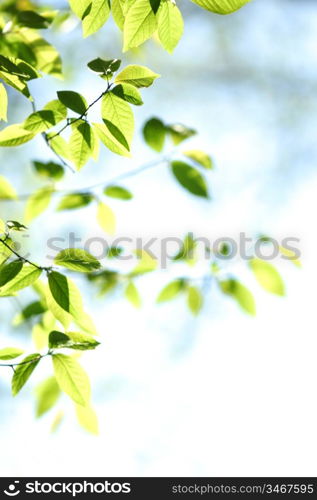
[(86, 372), (70, 356), (54, 354), (52, 358), (56, 381), (61, 390), (75, 403), (86, 406), (90, 400), (90, 383)]

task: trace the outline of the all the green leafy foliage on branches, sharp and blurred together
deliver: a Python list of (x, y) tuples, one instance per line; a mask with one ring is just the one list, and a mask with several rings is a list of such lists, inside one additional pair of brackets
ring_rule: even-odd
[[(194, 3), (217, 14), (229, 14), (248, 1), (194, 0)], [(13, 319), (14, 326), (29, 322), (30, 337), (37, 352), (21, 357), (24, 352), (20, 348), (4, 347), (0, 349), (0, 360), (5, 361), (1, 366), (13, 369), (12, 394), (16, 395), (32, 373), (51, 358), (52, 375), (36, 390), (37, 417), (54, 408), (61, 394), (66, 393), (75, 404), (79, 423), (96, 434), (98, 422), (91, 405), (90, 382), (78, 355), (98, 348), (99, 340), (80, 290), (68, 273), (75, 276), (82, 273), (101, 296), (121, 291), (132, 306), (139, 308), (142, 297), (137, 280), (155, 272), (157, 262), (146, 252), (136, 252), (136, 265), (129, 272), (120, 272), (112, 269), (111, 262), (122, 254), (122, 248), (108, 250), (109, 267), (103, 267), (84, 249), (66, 248), (55, 256), (52, 266), (43, 266), (23, 256), (16, 245), (16, 236), (27, 231), (27, 225), (53, 204), (57, 211), (77, 211), (94, 205), (102, 230), (108, 234), (116, 232), (114, 203), (133, 199), (133, 193), (121, 184), (125, 179), (123, 174), (82, 190), (61, 190), (59, 182), (64, 179), (66, 169), (79, 171), (91, 160), (98, 161), (100, 146), (116, 155), (131, 156), (135, 130), (133, 106), (143, 104), (141, 93), (156, 83), (160, 75), (139, 64), (122, 68), (119, 58), (102, 59), (96, 54), (86, 65), (87, 71), (104, 82), (99, 96), (88, 103), (87, 97), (75, 89), (60, 90), (57, 95), (48, 96), (47, 103), (39, 109), (29, 84), (45, 75), (62, 78), (61, 56), (42, 34), (52, 26), (58, 29), (69, 16), (80, 20), (83, 37), (88, 37), (100, 30), (112, 15), (122, 31), (123, 51), (139, 47), (155, 36), (167, 52), (172, 52), (182, 37), (184, 21), (174, 0), (69, 0), (69, 6), (71, 11), (65, 12), (52, 11), (30, 0), (7, 0), (0, 6), (0, 120), (7, 121), (8, 111), (10, 116), (8, 102), (12, 92), (18, 92), (32, 105), (32, 112), (21, 123), (3, 124), (0, 146), (16, 148), (30, 141), (44, 140), (52, 156), (45, 160), (32, 159), (34, 172), (45, 185), (26, 196), (20, 196), (12, 183), (0, 176), (0, 201), (26, 201), (24, 219), (0, 219), (0, 297), (10, 299), (26, 289), (37, 295), (37, 299), (27, 303)], [(97, 106), (100, 119), (92, 122), (90, 110)], [(143, 127), (145, 143), (155, 153), (162, 153), (168, 144), (172, 150), (126, 177), (163, 164), (184, 194), (190, 193), (208, 203), (209, 175), (214, 162), (205, 151), (183, 149), (183, 142), (195, 134), (194, 129), (182, 123), (150, 118)], [(209, 287), (215, 282), (224, 295), (254, 315), (252, 293), (235, 276), (228, 275), (220, 257), (217, 253), (210, 254), (208, 270), (202, 279), (179, 276), (168, 282), (158, 293), (157, 302), (162, 304), (183, 297), (189, 311), (197, 315), (204, 306), (206, 285)], [(192, 266), (198, 259), (197, 242), (193, 235), (186, 235), (172, 265)], [(266, 291), (284, 294), (282, 278), (271, 264), (254, 258), (249, 267)], [(61, 419), (59, 412), (54, 428)]]

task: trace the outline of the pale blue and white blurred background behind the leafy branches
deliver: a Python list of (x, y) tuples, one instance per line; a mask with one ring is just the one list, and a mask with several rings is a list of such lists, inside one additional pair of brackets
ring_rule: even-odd
[[(179, 6), (185, 34), (172, 56), (155, 41), (124, 56), (125, 63), (144, 64), (162, 75), (144, 90), (144, 106), (134, 110), (133, 159), (103, 150), (98, 164), (67, 174), (61, 187), (82, 188), (155, 158), (141, 136), (148, 118), (184, 123), (198, 135), (183, 149), (203, 149), (214, 159), (215, 170), (208, 174), (212, 200), (187, 194), (165, 166), (153, 168), (122, 183), (134, 193), (133, 201), (110, 203), (118, 235), (293, 236), (301, 239), (302, 269), (274, 262), (287, 287), (287, 296), (278, 298), (259, 288), (245, 263), (231, 263), (255, 294), (256, 318), (214, 287), (206, 291), (198, 318), (182, 298), (156, 305), (173, 271), (139, 281), (140, 311), (120, 294), (100, 299), (77, 280), (102, 339), (100, 348), (82, 359), (92, 380), (100, 435), (78, 427), (66, 397), (60, 402), (65, 419), (55, 434), (50, 434), (54, 414), (35, 419), (32, 390), (45, 370), (50, 373), (49, 362), (15, 399), (11, 373), (2, 370), (3, 476), (317, 474), (317, 4), (254, 0), (225, 17), (187, 0)], [(109, 21), (83, 40), (69, 21), (63, 31), (46, 36), (62, 54), (66, 78), (32, 82), (38, 107), (61, 89), (92, 101), (103, 82), (86, 64), (95, 57), (121, 57), (118, 29)], [(10, 97), (10, 122), (22, 121), (30, 104), (14, 92)], [(2, 148), (1, 174), (18, 192), (32, 191), (41, 182), (31, 161), (49, 158), (40, 139), (15, 151)], [(49, 237), (102, 234), (93, 209), (56, 213), (53, 208), (29, 231), (27, 246), (39, 262), (45, 262)], [(23, 204), (1, 202), (0, 210), (1, 218), (20, 220)], [(28, 327), (10, 327), (15, 313), (14, 302), (2, 299), (2, 343), (30, 349)]]

